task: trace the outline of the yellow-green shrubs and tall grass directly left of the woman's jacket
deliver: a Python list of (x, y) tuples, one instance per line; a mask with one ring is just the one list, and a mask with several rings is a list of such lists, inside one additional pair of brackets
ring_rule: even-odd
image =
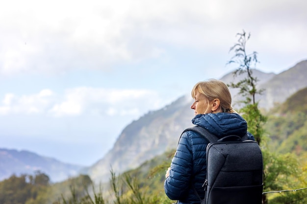
[(175, 150), (144, 162), (140, 167), (116, 175), (111, 169), (111, 179), (105, 189), (85, 190), (83, 196), (71, 189), (70, 196), (54, 204), (172, 204), (164, 193), (165, 170), (169, 167)]

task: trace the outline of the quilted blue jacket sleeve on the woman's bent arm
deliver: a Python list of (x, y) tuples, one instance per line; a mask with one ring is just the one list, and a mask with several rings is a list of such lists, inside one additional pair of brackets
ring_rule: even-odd
[(189, 191), (193, 167), (189, 134), (189, 132), (185, 132), (180, 137), (175, 156), (172, 159), (169, 177), (164, 182), (165, 193), (171, 200), (180, 200), (186, 197)]

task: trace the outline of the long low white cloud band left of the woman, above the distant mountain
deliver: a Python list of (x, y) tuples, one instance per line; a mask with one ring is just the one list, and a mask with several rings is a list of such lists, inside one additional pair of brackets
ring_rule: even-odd
[(151, 90), (77, 87), (67, 89), (60, 95), (45, 89), (21, 96), (6, 93), (0, 103), (0, 114), (40, 114), (49, 117), (128, 115), (136, 119), (148, 110), (162, 108), (165, 102)]

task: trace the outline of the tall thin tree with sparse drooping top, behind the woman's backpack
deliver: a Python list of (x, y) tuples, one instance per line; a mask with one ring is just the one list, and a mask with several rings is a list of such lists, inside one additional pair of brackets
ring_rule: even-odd
[[(242, 80), (237, 83), (230, 83), (231, 88), (239, 89), (239, 94), (244, 97), (241, 103), (244, 104), (243, 108), (239, 110), (242, 116), (248, 123), (248, 131), (251, 132), (258, 144), (260, 145), (261, 138), (264, 135), (263, 124), (266, 122), (266, 117), (260, 113), (258, 109), (258, 102), (255, 99), (256, 94), (261, 94), (264, 90), (257, 90), (256, 85), (258, 79), (253, 75), (253, 69), (256, 68), (257, 52), (251, 54), (246, 52), (246, 43), (251, 35), (246, 34), (243, 30), (242, 33), (237, 33), (238, 42), (230, 47), (230, 52), (233, 51), (234, 55), (227, 64), (237, 64), (238, 67), (233, 72), (234, 77), (246, 74)], [(265, 185), (266, 173), (263, 171), (263, 180)], [(266, 195), (262, 196), (262, 204), (267, 204), (268, 200)]]

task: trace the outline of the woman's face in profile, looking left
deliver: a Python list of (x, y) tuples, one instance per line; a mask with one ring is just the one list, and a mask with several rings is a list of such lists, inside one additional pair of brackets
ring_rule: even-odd
[(194, 114), (211, 113), (210, 103), (204, 94), (195, 91), (194, 103), (191, 105), (191, 109), (194, 109)]

